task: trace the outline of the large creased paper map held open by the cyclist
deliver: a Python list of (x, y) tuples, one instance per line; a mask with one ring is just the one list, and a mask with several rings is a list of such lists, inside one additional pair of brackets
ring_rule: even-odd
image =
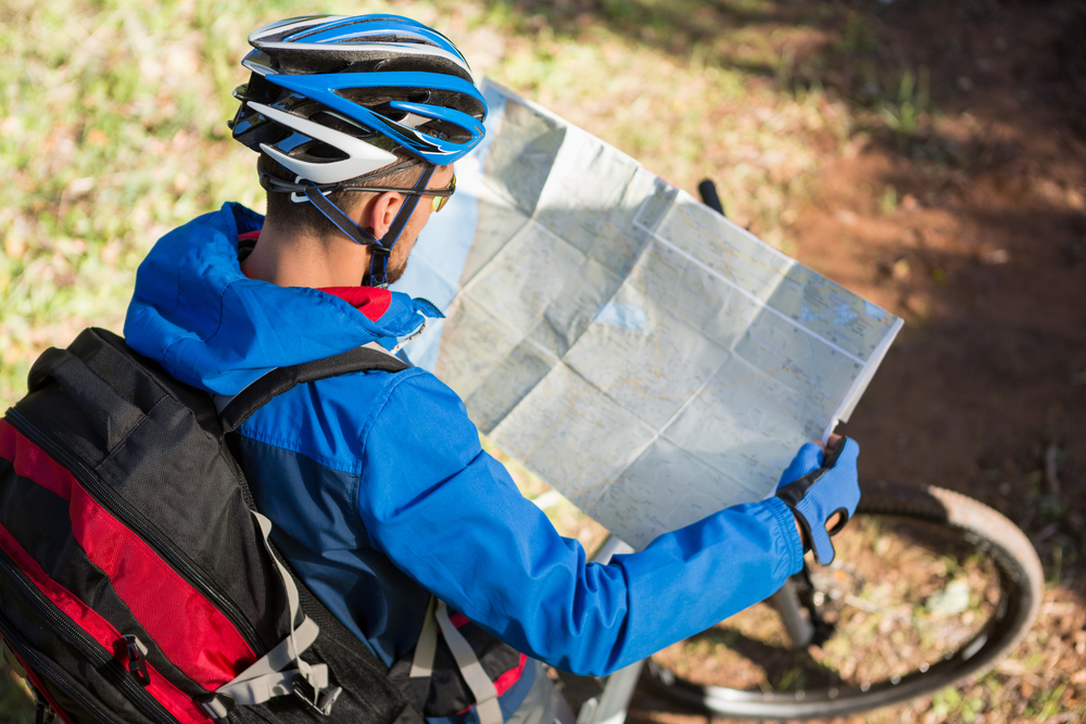
[(484, 92), (487, 141), (397, 287), (447, 314), (412, 358), (634, 548), (772, 493), (799, 445), (848, 418), (901, 320)]

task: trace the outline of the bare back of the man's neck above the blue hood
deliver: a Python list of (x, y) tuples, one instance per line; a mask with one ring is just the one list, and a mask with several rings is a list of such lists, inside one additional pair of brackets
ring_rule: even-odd
[(260, 242), (241, 263), (241, 269), (250, 279), (279, 287), (356, 287), (368, 259), (369, 250), (346, 237), (300, 237), (265, 224)]

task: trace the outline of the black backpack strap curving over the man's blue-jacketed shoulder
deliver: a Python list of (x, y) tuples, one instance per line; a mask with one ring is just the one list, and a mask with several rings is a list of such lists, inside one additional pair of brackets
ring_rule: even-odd
[(273, 397), (299, 384), (351, 372), (370, 370), (400, 372), (409, 367), (411, 365), (384, 347), (370, 342), (325, 359), (314, 359), (291, 367), (277, 367), (235, 395), (233, 399), (223, 408), (218, 418), (223, 423), (223, 431), (232, 432)]

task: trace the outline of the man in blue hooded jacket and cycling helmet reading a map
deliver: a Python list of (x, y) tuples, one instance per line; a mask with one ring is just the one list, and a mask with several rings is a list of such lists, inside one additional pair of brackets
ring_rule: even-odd
[[(134, 348), (223, 404), (275, 367), (399, 351), (441, 316), (384, 284), (484, 132), (463, 55), (414, 21), (308, 16), (250, 42), (232, 127), (261, 153), (267, 218), (227, 204), (164, 237), (125, 325)], [(856, 444), (826, 467), (808, 445), (781, 497), (586, 563), (480, 448), (455, 393), (417, 368), (299, 385), (235, 449), (294, 571), (386, 664), (411, 662), (433, 615), (443, 639), (469, 643), (484, 684), (449, 671), (445, 649), (433, 669), (425, 713), (451, 722), (548, 723), (557, 702), (536, 661), (606, 674), (707, 628), (798, 571), (801, 535), (828, 562), (824, 525), (859, 497)]]

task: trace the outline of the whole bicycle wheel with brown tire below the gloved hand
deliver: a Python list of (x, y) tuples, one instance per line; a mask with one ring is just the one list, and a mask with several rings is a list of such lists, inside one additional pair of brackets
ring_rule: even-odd
[(1032, 544), (958, 493), (864, 485), (833, 542), (834, 563), (810, 570), (807, 592), (833, 627), (821, 646), (793, 650), (759, 604), (653, 657), (648, 681), (728, 716), (851, 713), (982, 674), (1037, 615), (1044, 577)]

